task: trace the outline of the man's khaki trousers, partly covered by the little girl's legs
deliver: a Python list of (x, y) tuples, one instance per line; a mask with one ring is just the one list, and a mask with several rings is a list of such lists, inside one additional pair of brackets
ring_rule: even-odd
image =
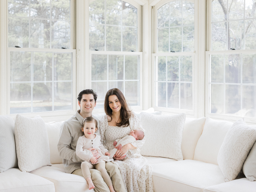
[[(118, 166), (112, 162), (106, 162), (105, 168), (112, 180), (116, 192), (126, 192), (121, 173)], [(104, 182), (101, 173), (96, 169), (90, 169), (95, 192), (110, 192), (108, 185)], [(83, 177), (82, 169), (77, 169), (72, 174)]]

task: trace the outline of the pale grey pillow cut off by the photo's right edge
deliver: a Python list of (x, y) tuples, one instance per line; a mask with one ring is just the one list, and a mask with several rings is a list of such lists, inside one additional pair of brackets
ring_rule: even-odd
[(243, 164), (243, 174), (250, 181), (256, 181), (256, 142)]

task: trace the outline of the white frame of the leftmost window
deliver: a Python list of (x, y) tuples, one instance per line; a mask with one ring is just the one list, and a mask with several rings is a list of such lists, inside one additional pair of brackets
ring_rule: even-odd
[(0, 62), (1, 62), (1, 88), (0, 88), (0, 115), (10, 115), (15, 119), (16, 114), (10, 114), (10, 51), (32, 51), (32, 52), (57, 52), (57, 53), (72, 53), (72, 110), (52, 111), (52, 112), (37, 112), (37, 113), (22, 113), (25, 117), (34, 117), (40, 115), (45, 121), (64, 120), (73, 115), (77, 108), (74, 98), (76, 94), (76, 50), (74, 37), (75, 24), (75, 1), (70, 0), (70, 49), (48, 49), (48, 48), (9, 48), (8, 47), (8, 0), (1, 1), (0, 15)]

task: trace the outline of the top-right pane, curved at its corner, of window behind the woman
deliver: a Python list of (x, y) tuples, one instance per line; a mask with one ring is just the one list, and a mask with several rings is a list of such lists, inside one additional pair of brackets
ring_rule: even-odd
[(123, 25), (137, 27), (137, 8), (123, 1)]

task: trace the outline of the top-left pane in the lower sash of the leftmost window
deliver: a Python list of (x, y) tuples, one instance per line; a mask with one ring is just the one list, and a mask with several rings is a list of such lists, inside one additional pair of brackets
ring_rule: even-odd
[(10, 81), (31, 80), (31, 52), (10, 51)]

